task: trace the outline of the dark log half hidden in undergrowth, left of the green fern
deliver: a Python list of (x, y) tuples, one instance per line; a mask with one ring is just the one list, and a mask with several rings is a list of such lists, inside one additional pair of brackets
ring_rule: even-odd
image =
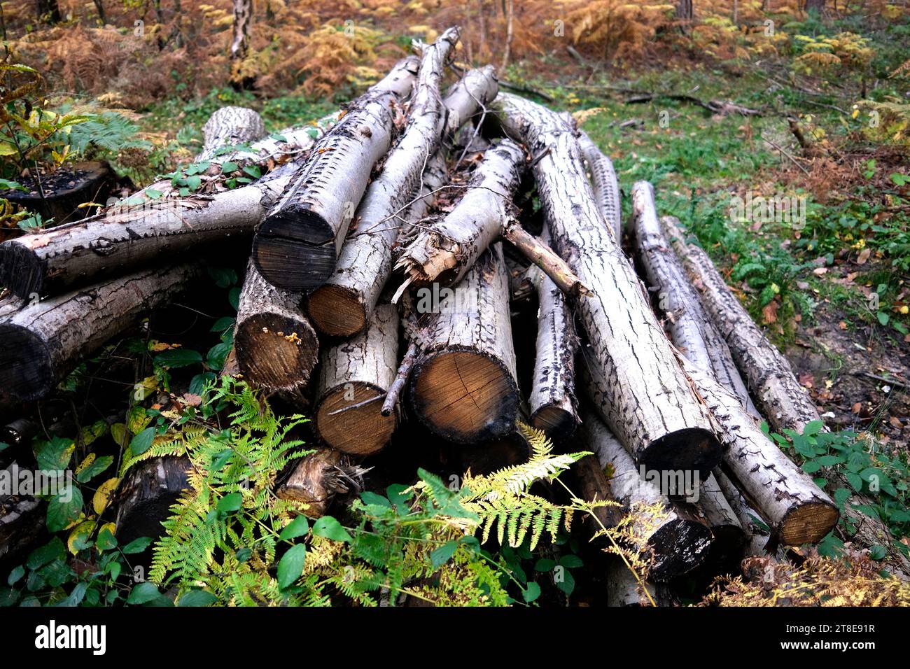
[(116, 538), (126, 544), (139, 537), (157, 539), (161, 523), (180, 494), (189, 487), (187, 458), (167, 456), (137, 464), (126, 476), (116, 516)]

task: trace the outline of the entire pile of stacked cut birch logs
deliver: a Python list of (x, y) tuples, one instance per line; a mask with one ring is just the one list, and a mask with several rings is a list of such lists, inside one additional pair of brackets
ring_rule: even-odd
[[(819, 542), (834, 502), (759, 426), (817, 418), (786, 360), (743, 322), (701, 249), (658, 217), (646, 183), (632, 188), (627, 230), (639, 276), (612, 163), (571, 117), (500, 93), (491, 66), (445, 88), (458, 41), (447, 30), (341, 113), (280, 139), (255, 112), (217, 113), (197, 195), (165, 183), (138, 206), (0, 245), (0, 387), (44, 397), (190, 288), (201, 270), (189, 254), (239, 249), (233, 355), (251, 385), (308, 403), (298, 410), (319, 451), (277, 492), (313, 515), (359, 489), (360, 464), (404, 423), (462, 453), (513, 453), (528, 421), (593, 453), (575, 471), (586, 498), (652, 510), (636, 523), (655, 583), (711, 555), (735, 563)], [(251, 144), (224, 150), (238, 141)], [(228, 189), (227, 161), (265, 176)], [(522, 282), (530, 298), (515, 296)], [(536, 331), (513, 328), (528, 305)], [(175, 466), (150, 461), (126, 481), (123, 532), (186, 484)], [(621, 581), (616, 602), (637, 601)]]

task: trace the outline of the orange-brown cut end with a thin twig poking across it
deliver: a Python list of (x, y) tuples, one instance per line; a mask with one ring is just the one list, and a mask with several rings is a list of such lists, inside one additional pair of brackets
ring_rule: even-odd
[(319, 438), (333, 449), (353, 455), (381, 450), (397, 426), (394, 414), (383, 416), (379, 411), (385, 396), (385, 390), (359, 381), (327, 390), (316, 408)]

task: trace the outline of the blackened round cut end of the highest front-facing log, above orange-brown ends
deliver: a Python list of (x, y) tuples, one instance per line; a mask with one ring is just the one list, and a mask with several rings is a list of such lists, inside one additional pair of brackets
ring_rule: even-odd
[(338, 260), (335, 233), (308, 209), (267, 218), (253, 239), (256, 269), (273, 286), (310, 293), (324, 284)]

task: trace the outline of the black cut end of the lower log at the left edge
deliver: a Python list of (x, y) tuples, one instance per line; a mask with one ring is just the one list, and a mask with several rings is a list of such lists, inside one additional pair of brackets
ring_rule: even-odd
[(51, 352), (34, 332), (0, 323), (0, 388), (19, 400), (37, 400), (54, 386)]

